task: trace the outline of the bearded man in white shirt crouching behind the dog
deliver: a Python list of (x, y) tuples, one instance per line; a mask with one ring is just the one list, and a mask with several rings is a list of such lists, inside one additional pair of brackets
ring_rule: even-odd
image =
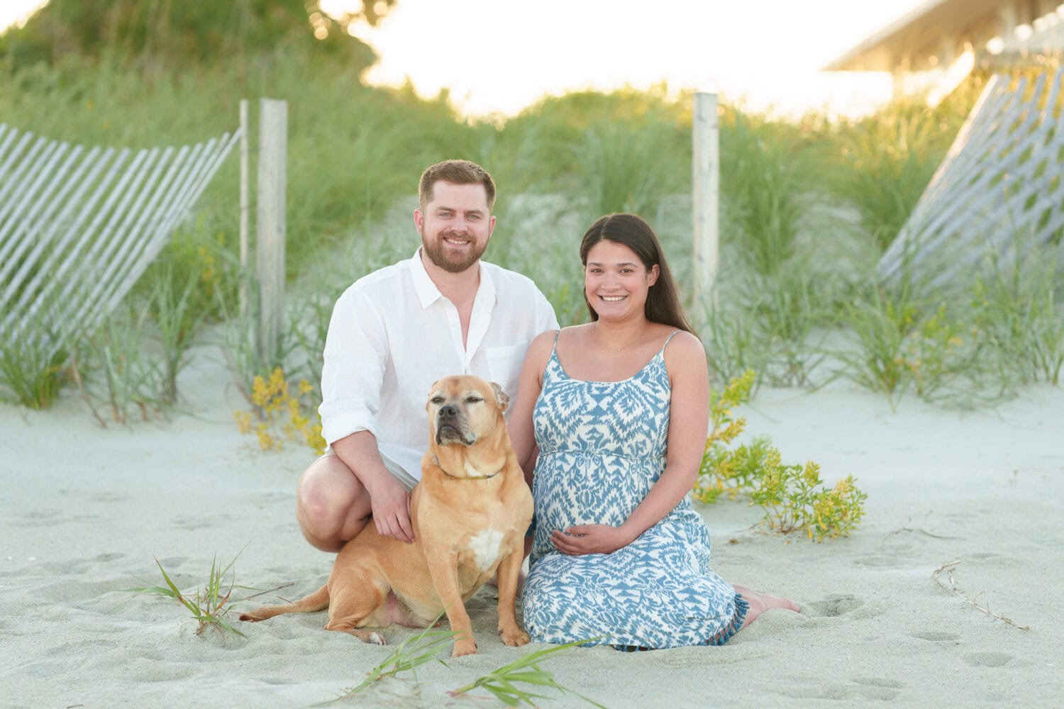
[(482, 263), (495, 182), (468, 161), (421, 175), (414, 257), (348, 288), (333, 309), (321, 371), (330, 450), (299, 480), (296, 516), (314, 546), (338, 551), (372, 516), (377, 530), (414, 540), (410, 490), (428, 449), (432, 384), (476, 374), (511, 396), (529, 342), (556, 328), (527, 277)]

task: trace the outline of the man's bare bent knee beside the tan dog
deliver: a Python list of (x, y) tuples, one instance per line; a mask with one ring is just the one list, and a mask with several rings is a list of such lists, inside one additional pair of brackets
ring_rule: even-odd
[(299, 478), (296, 519), (306, 541), (338, 552), (369, 521), (369, 493), (335, 455), (315, 460)]

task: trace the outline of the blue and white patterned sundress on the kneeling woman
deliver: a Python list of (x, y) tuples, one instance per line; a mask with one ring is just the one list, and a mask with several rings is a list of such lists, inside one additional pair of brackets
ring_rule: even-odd
[(747, 603), (710, 569), (709, 530), (689, 494), (613, 554), (568, 556), (550, 542), (571, 525), (619, 526), (661, 476), (671, 399), (664, 352), (621, 382), (573, 379), (551, 352), (533, 412), (535, 536), (521, 597), (534, 641), (724, 644), (743, 624)]

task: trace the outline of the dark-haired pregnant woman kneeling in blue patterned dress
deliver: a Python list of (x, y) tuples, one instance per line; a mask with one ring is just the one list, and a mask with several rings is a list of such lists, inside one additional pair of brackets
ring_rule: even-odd
[(797, 610), (710, 569), (688, 495), (709, 428), (705, 352), (658, 237), (635, 215), (609, 215), (580, 258), (591, 322), (533, 340), (510, 423), (535, 499), (529, 635), (719, 645), (766, 609)]

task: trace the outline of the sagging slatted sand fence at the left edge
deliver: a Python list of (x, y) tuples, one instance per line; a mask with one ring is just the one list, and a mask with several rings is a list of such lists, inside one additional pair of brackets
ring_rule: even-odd
[(193, 146), (102, 148), (0, 124), (0, 338), (49, 355), (110, 314), (221, 166), (239, 131)]

